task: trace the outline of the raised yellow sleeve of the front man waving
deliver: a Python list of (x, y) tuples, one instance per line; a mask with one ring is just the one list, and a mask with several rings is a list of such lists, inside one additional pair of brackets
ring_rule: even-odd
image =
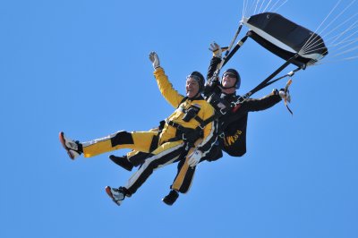
[(154, 72), (154, 77), (157, 80), (160, 93), (166, 98), (166, 101), (175, 108), (178, 107), (184, 97), (173, 89), (173, 85), (169, 82), (166, 73), (161, 67)]

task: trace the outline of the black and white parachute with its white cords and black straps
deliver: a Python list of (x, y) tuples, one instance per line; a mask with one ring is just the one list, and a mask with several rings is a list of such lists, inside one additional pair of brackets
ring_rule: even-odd
[[(330, 58), (335, 58), (334, 61), (358, 58), (358, 55), (349, 55), (345, 58), (341, 57), (358, 49), (357, 46), (354, 46), (354, 44), (356, 45), (358, 42), (358, 13), (356, 11), (358, 8), (353, 7), (357, 0), (345, 4), (343, 9), (339, 10), (340, 7), (342, 8), (342, 1), (343, 0), (338, 0), (332, 11), (328, 13), (326, 19), (321, 22), (318, 29), (313, 31), (276, 13), (278, 8), (285, 4), (287, 0), (255, 0), (251, 2), (251, 5), (249, 5), (249, 0), (243, 0), (243, 17), (233, 40), (229, 47), (227, 47), (226, 55), (224, 55), (223, 61), (221, 65), (219, 65), (219, 70), (230, 60), (237, 50), (243, 46), (248, 38), (252, 38), (259, 43), (261, 47), (265, 47), (268, 51), (281, 57), (286, 62), (275, 72), (270, 74), (268, 78), (262, 81), (256, 88), (246, 93), (241, 100), (250, 98), (253, 93), (267, 87), (275, 81), (293, 76), (294, 72), (304, 70), (312, 65), (323, 64), (324, 60), (328, 58), (328, 52), (329, 56), (331, 55)], [(261, 9), (263, 10), (261, 11)], [(355, 12), (347, 18), (346, 13), (352, 10)], [(247, 13), (250, 11), (253, 11), (253, 14), (248, 16)], [(338, 13), (334, 15), (336, 12)], [(333, 20), (329, 21), (329, 18), (332, 16)], [(342, 20), (342, 18), (344, 19)], [(325, 23), (327, 24), (326, 27), (324, 27)], [(234, 46), (234, 42), (243, 29), (243, 26), (247, 27), (248, 31)], [(279, 72), (282, 72), (290, 64), (297, 66), (297, 69), (287, 73), (283, 77), (273, 80)]]

